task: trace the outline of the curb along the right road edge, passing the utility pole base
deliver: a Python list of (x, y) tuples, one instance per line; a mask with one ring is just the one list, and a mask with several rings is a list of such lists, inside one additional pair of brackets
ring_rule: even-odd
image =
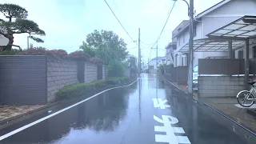
[[(177, 85), (175, 85), (174, 83), (172, 83), (172, 82), (166, 80), (166, 78), (163, 78), (163, 79), (164, 79), (164, 81), (170, 83), (172, 86), (178, 88), (178, 90), (182, 90), (182, 92), (184, 92), (185, 94), (189, 94), (186, 90), (183, 90), (180, 86), (177, 86)], [(256, 134), (255, 134), (252, 130), (248, 129), (246, 126), (242, 126), (242, 125), (241, 125), (240, 123), (238, 123), (238, 122), (235, 122), (232, 118), (229, 118), (228, 116), (226, 116), (226, 114), (223, 114), (221, 111), (215, 109), (213, 106), (210, 106), (210, 105), (206, 104), (206, 102), (203, 102), (201, 99), (195, 97), (194, 95), (193, 95), (193, 99), (194, 99), (195, 101), (197, 101), (197, 102), (201, 102), (201, 103), (204, 104), (205, 106), (208, 106), (211, 110), (214, 110), (214, 111), (217, 112), (218, 114), (222, 115), (224, 118), (230, 120), (230, 122), (233, 122), (233, 123), (236, 124), (237, 126), (241, 127), (243, 130), (246, 130), (248, 133), (250, 133), (250, 134), (254, 135), (254, 137), (256, 137)]]

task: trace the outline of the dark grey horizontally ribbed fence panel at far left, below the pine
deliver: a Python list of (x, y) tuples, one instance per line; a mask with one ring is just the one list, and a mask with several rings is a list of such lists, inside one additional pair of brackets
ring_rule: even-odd
[(46, 65), (46, 56), (0, 56), (0, 104), (45, 104)]

